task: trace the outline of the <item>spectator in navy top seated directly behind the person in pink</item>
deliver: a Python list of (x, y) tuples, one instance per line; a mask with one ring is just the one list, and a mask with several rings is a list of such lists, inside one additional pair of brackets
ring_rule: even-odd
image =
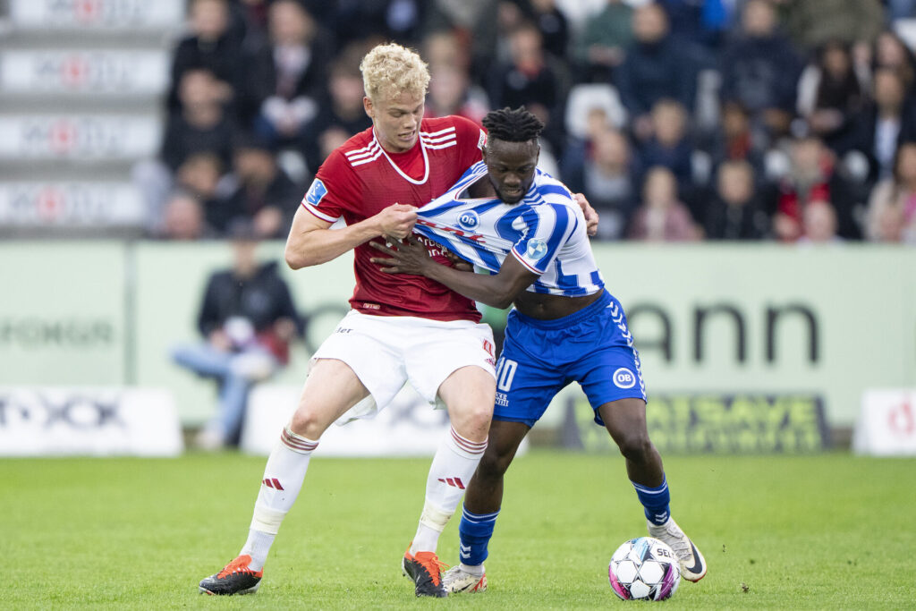
[(670, 169), (684, 197), (693, 188), (693, 144), (687, 135), (687, 112), (676, 100), (663, 98), (652, 105), (649, 118), (652, 136), (638, 146), (639, 166)]

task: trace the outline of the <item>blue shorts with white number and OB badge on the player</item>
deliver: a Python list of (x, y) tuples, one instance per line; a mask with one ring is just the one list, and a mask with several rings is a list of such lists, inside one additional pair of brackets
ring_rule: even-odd
[(494, 420), (540, 420), (551, 399), (578, 382), (598, 408), (621, 398), (646, 400), (639, 354), (620, 302), (607, 291), (580, 311), (552, 321), (509, 312), (506, 340), (496, 363)]

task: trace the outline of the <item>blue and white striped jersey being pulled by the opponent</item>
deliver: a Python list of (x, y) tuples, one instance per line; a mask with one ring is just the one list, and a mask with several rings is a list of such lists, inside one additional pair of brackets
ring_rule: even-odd
[(582, 209), (562, 182), (538, 169), (521, 202), (461, 197), (485, 176), (483, 161), (471, 166), (451, 189), (420, 208), (414, 231), (491, 273), (511, 252), (540, 276), (528, 288), (532, 292), (579, 297), (604, 288)]

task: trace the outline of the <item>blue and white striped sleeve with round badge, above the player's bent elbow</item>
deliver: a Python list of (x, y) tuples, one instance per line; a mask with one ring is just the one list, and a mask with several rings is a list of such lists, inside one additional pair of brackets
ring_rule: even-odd
[(522, 213), (528, 230), (512, 246), (519, 263), (539, 276), (546, 272), (570, 239), (579, 220), (573, 210), (559, 203), (534, 206)]

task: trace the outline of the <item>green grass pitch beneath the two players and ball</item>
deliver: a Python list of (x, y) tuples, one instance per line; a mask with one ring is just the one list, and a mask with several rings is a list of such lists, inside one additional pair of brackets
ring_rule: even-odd
[[(0, 460), (0, 608), (620, 608), (617, 545), (645, 534), (616, 455), (536, 451), (507, 476), (484, 595), (418, 600), (400, 556), (428, 460), (312, 461), (256, 595), (199, 595), (231, 560), (265, 460)], [(664, 608), (916, 606), (914, 460), (669, 456), (672, 512), (709, 563)], [(457, 520), (442, 536), (455, 562)]]

